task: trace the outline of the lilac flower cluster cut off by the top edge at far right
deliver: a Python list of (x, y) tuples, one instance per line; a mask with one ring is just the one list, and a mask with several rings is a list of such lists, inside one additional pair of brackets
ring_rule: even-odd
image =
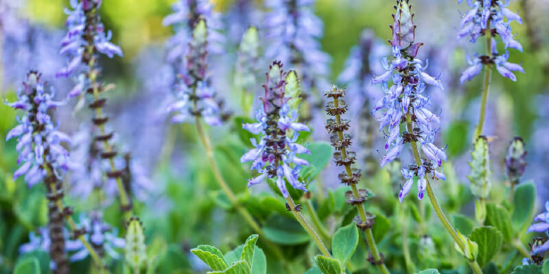
[[(459, 3), (462, 1), (460, 0)], [(522, 45), (514, 39), (509, 25), (511, 21), (522, 24), (522, 19), (518, 14), (506, 8), (509, 5), (509, 0), (467, 0), (467, 4), (469, 4), (471, 10), (462, 16), (458, 38), (470, 36), (470, 41), (474, 43), (478, 37), (490, 35), (492, 56), (475, 53), (472, 58), (469, 58), (470, 66), (463, 71), (460, 82), (463, 84), (465, 80), (471, 81), (473, 77), (482, 71), (482, 65), (486, 64), (495, 64), (498, 73), (503, 77), (516, 81), (517, 77), (513, 74), (513, 71), (524, 73), (524, 69), (519, 64), (507, 62), (509, 58), (508, 51), (501, 55), (498, 53), (496, 40), (493, 37), (500, 36), (506, 49), (512, 48), (522, 51)], [(504, 22), (505, 18), (507, 22)]]

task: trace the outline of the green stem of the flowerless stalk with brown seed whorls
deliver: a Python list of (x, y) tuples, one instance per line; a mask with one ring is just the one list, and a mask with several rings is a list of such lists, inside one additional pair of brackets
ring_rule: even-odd
[[(339, 99), (338, 97), (334, 97), (334, 106), (337, 107), (339, 105)], [(341, 115), (336, 115), (336, 123), (338, 125), (341, 124)], [(338, 139), (340, 142), (343, 141), (343, 132), (338, 132)], [(345, 147), (341, 148), (341, 158), (347, 159), (347, 150)], [(347, 172), (348, 177), (353, 177), (353, 171), (351, 171), (350, 165), (345, 165), (345, 172)], [(353, 191), (353, 197), (355, 199), (358, 199), (358, 189), (356, 187), (356, 184), (351, 184), (351, 190)], [(358, 214), (360, 215), (360, 221), (362, 223), (366, 223), (366, 210), (364, 210), (363, 203), (357, 203), (356, 208), (358, 210)], [(385, 263), (382, 260), (381, 255), (379, 254), (379, 251), (377, 250), (377, 245), (375, 245), (375, 239), (373, 238), (372, 229), (369, 227), (366, 227), (364, 229), (364, 237), (366, 238), (366, 242), (368, 243), (368, 246), (370, 248), (370, 252), (372, 253), (372, 256), (375, 260), (375, 262), (381, 262), (379, 264), (375, 264), (377, 266), (377, 269), (383, 274), (390, 273), (387, 269), (387, 266), (385, 266)]]

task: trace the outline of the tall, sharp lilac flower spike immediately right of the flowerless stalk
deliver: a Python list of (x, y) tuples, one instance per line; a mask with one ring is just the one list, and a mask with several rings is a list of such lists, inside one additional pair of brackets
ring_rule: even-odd
[[(443, 86), (439, 79), (425, 73), (428, 62), (415, 58), (422, 43), (414, 43), (415, 26), (408, 1), (397, 1), (395, 9), (395, 23), (391, 27), (393, 40), (389, 41), (393, 45), (394, 60), (389, 63), (384, 59), (386, 72), (372, 79), (372, 84), (382, 83), (386, 93), (373, 106), (373, 114), (380, 122), (380, 132), (388, 128), (385, 143), (388, 152), (380, 162), (382, 167), (395, 160), (407, 142), (412, 146), (419, 143), (425, 159), (420, 166), (412, 164), (402, 169), (406, 183), (401, 187), (399, 199), (402, 201), (408, 195), (415, 175), (419, 177), (418, 198), (421, 200), (425, 192), (426, 175), (445, 179), (445, 175), (436, 170), (446, 160), (445, 152), (434, 145), (434, 138), (439, 131), (439, 117), (428, 110), (430, 99), (423, 95), (425, 84), (441, 89)], [(390, 88), (389, 79), (393, 80)], [(401, 132), (401, 123), (408, 124), (408, 131)]]

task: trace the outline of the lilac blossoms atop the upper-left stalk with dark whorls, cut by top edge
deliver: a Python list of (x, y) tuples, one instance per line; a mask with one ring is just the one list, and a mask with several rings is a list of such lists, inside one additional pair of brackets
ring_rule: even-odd
[[(69, 31), (65, 38), (61, 40), (60, 54), (67, 55), (69, 62), (56, 76), (69, 77), (75, 72), (79, 73), (75, 76), (76, 84), (69, 92), (68, 97), (72, 98), (80, 95), (91, 84), (89, 76), (86, 75), (86, 73), (89, 73), (87, 62), (91, 58), (90, 47), (94, 47), (98, 52), (107, 55), (108, 58), (113, 58), (114, 55), (123, 55), (120, 47), (110, 42), (113, 37), (112, 32), (108, 31), (105, 34), (100, 17), (86, 17), (89, 10), (99, 9), (101, 3), (101, 0), (71, 0), (72, 10), (65, 9), (67, 29)], [(93, 37), (86, 37), (88, 35)]]

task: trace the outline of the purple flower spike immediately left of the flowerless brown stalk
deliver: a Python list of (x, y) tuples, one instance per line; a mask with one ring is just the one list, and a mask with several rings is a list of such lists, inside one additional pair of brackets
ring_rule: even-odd
[(261, 97), (263, 107), (256, 114), (258, 123), (242, 125), (253, 134), (261, 134), (261, 140), (258, 143), (255, 138), (250, 139), (255, 148), (244, 153), (240, 162), (253, 162), (251, 169), (261, 173), (248, 181), (248, 187), (277, 177), (279, 190), (283, 197), (288, 197), (286, 181), (296, 189), (307, 191), (305, 184), (299, 182), (299, 171), (309, 163), (297, 154), (309, 153), (309, 150), (296, 140), (299, 132), (309, 132), (309, 127), (296, 123), (298, 114), (288, 105), (290, 98), (285, 96), (286, 73), (282, 63), (272, 62), (266, 75), (265, 95)]

